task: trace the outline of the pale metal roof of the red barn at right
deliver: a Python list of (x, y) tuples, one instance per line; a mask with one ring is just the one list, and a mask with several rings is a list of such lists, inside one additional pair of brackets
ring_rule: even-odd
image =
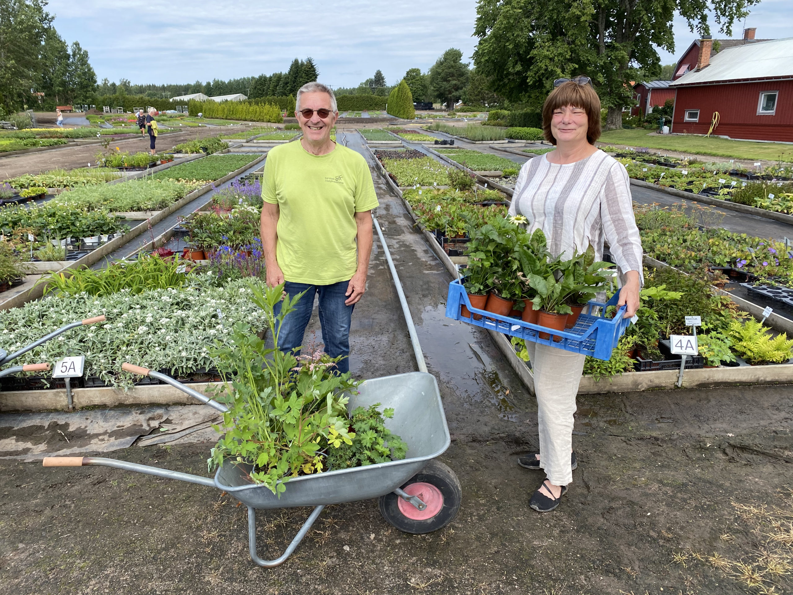
[(793, 79), (793, 37), (738, 45), (711, 56), (709, 66), (690, 71), (670, 86)]

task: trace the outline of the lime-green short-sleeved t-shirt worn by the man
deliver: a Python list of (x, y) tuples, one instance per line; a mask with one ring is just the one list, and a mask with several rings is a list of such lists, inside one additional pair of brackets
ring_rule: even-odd
[(312, 155), (300, 140), (270, 149), (264, 202), (278, 205), (278, 266), (287, 281), (330, 285), (358, 268), (355, 213), (374, 209), (377, 194), (366, 159), (336, 144)]

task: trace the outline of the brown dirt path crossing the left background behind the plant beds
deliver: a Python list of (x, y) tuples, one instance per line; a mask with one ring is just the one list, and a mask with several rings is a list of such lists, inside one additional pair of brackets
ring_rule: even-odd
[[(239, 127), (213, 126), (192, 128), (185, 132), (168, 132), (157, 137), (157, 146), (162, 150), (170, 149), (174, 145), (184, 143), (195, 138), (216, 136), (218, 134), (239, 132)], [(139, 152), (149, 150), (149, 137), (139, 134), (135, 138), (116, 140), (113, 147), (121, 151)], [(48, 149), (26, 153), (25, 155), (11, 155), (3, 157), (0, 153), (0, 180), (14, 178), (23, 174), (38, 174), (42, 171), (63, 168), (72, 170), (77, 167), (86, 167), (88, 163), (96, 162), (97, 152), (102, 151), (101, 144), (84, 144), (82, 146), (65, 146), (63, 148)]]

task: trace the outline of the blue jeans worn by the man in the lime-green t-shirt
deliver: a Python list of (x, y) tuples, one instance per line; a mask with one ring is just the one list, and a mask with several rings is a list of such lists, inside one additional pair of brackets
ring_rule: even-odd
[[(305, 294), (295, 304), (295, 309), (286, 315), (281, 328), (278, 330), (278, 347), (281, 351), (294, 351), (300, 355), (303, 346), (303, 336), (311, 313), (314, 309), (314, 294), (320, 294), (320, 325), (322, 326), (322, 340), (325, 344), (325, 353), (331, 358), (343, 355), (343, 359), (336, 363), (340, 374), (350, 371), (350, 323), (352, 320), (353, 305), (345, 305), (347, 300), (347, 286), (349, 281), (339, 281), (332, 285), (308, 285), (307, 283), (285, 282), (284, 290), (289, 296), (296, 296), (302, 291)], [(282, 302), (275, 306), (275, 313), (281, 312)]]

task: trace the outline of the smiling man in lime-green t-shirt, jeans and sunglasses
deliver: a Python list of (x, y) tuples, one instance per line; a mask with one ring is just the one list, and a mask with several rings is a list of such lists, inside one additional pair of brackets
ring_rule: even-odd
[(267, 284), (285, 283), (292, 296), (305, 291), (285, 317), (278, 344), (283, 351), (301, 347), (319, 294), (325, 351), (343, 356), (336, 365), (344, 373), (352, 311), (366, 291), (377, 195), (366, 159), (331, 140), (339, 112), (328, 86), (302, 86), (295, 116), (303, 137), (270, 149), (262, 178)]

